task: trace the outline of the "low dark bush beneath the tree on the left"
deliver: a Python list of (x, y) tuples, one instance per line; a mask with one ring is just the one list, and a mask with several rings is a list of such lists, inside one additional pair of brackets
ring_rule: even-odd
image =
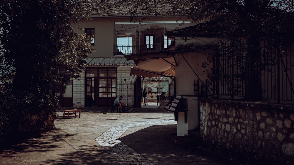
[(24, 132), (20, 129), (28, 122), (27, 116), (55, 113), (59, 106), (56, 97), (45, 93), (14, 92), (0, 92), (0, 144), (17, 142), (39, 133), (28, 127)]

